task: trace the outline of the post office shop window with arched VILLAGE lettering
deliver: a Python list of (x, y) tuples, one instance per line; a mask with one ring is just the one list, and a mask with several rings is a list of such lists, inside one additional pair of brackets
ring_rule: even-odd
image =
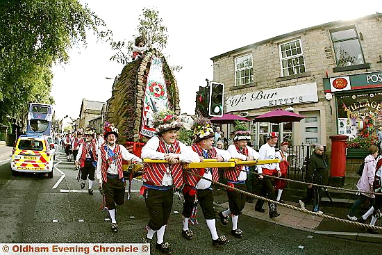
[(357, 92), (336, 95), (338, 133), (349, 139), (376, 135), (382, 126), (382, 92)]

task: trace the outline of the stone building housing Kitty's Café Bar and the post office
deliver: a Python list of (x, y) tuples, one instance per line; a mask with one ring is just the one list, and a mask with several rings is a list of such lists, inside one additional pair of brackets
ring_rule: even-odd
[[(329, 136), (375, 133), (382, 126), (382, 15), (319, 24), (214, 56), (213, 81), (224, 83), (225, 113), (247, 116), (255, 146), (270, 131), (292, 145)], [(301, 122), (258, 123), (276, 108)], [(229, 126), (226, 133), (232, 130)]]

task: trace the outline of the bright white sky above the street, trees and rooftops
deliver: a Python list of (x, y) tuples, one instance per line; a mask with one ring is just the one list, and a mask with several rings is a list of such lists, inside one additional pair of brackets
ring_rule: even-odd
[[(178, 83), (181, 113), (194, 114), (195, 92), (206, 79), (213, 81), (210, 58), (278, 35), (338, 20), (349, 20), (379, 11), (381, 1), (166, 1), (80, 0), (99, 17), (113, 38), (133, 40), (143, 8), (158, 10), (167, 27), (169, 65)], [(106, 42), (90, 36), (86, 47), (69, 51), (69, 63), (55, 65), (51, 96), (56, 117), (79, 117), (83, 98), (105, 101), (111, 97), (115, 76), (123, 65), (111, 62)]]

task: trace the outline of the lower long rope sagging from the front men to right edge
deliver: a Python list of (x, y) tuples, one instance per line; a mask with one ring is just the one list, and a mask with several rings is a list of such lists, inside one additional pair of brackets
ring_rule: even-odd
[(224, 187), (226, 189), (235, 190), (236, 192), (242, 193), (242, 194), (247, 195), (249, 197), (254, 197), (254, 198), (257, 198), (257, 199), (263, 199), (264, 201), (267, 201), (267, 202), (270, 202), (270, 203), (274, 203), (274, 204), (277, 204), (279, 206), (283, 206), (283, 207), (286, 207), (286, 208), (290, 208), (290, 209), (292, 209), (294, 211), (299, 211), (299, 212), (310, 214), (310, 215), (313, 215), (313, 216), (322, 217), (322, 218), (325, 218), (325, 219), (333, 220), (335, 222), (342, 222), (342, 223), (345, 223), (345, 224), (351, 224), (351, 225), (354, 225), (354, 226), (357, 226), (357, 227), (363, 227), (363, 228), (366, 228), (366, 229), (373, 229), (375, 231), (381, 231), (382, 230), (382, 227), (376, 227), (376, 226), (372, 226), (372, 225), (364, 224), (364, 223), (360, 223), (360, 222), (353, 222), (351, 220), (344, 220), (344, 219), (341, 219), (341, 218), (338, 218), (338, 217), (333, 217), (333, 216), (330, 216), (330, 215), (319, 214), (319, 213), (316, 213), (316, 212), (308, 211), (306, 209), (299, 208), (297, 206), (292, 206), (290, 204), (283, 204), (283, 203), (280, 203), (279, 201), (274, 201), (274, 200), (271, 200), (271, 199), (267, 199), (266, 197), (261, 197), (261, 196), (249, 193), (247, 191), (244, 191), (244, 190), (239, 190), (238, 188), (233, 188), (233, 187), (228, 186), (228, 185), (226, 185), (224, 183), (219, 183), (218, 181), (214, 181), (214, 180), (208, 179), (208, 178), (206, 178), (204, 176), (201, 176), (199, 174), (196, 174), (194, 172), (190, 172), (189, 170), (183, 170), (183, 171), (188, 172), (189, 174), (193, 174), (195, 176), (198, 176), (201, 179), (205, 179), (206, 181), (211, 181), (212, 183), (217, 184), (219, 186), (222, 186), (222, 187)]

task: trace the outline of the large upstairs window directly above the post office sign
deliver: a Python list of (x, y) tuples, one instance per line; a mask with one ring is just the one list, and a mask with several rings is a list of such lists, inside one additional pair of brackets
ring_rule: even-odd
[(348, 27), (331, 31), (337, 67), (365, 63), (356, 28)]

